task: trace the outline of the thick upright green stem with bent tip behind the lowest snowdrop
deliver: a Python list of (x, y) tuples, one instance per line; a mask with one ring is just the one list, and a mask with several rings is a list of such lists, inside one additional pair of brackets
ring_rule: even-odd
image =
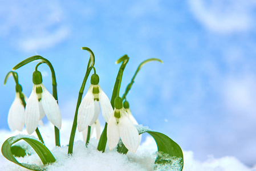
[[(128, 63), (128, 61), (129, 61), (129, 57), (127, 55), (124, 55), (124, 56), (121, 56), (121, 58), (119, 58), (116, 62), (116, 63), (120, 63), (120, 62), (123, 62), (123, 63), (121, 64), (118, 74), (116, 76), (116, 82), (115, 82), (115, 86), (113, 88), (113, 93), (112, 93), (112, 97), (111, 97), (111, 105), (112, 105), (113, 109), (115, 109), (114, 101), (115, 101), (115, 98), (117, 96), (119, 96), (121, 79), (123, 76), (124, 68), (125, 68), (126, 64)], [(105, 147), (107, 144), (107, 127), (108, 127), (108, 124), (105, 123), (105, 127), (103, 129), (103, 132), (101, 133), (99, 144), (97, 146), (97, 150), (102, 151), (103, 153), (105, 152)]]

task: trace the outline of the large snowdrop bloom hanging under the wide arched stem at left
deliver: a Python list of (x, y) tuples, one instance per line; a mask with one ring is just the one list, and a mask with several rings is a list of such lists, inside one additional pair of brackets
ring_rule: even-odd
[(62, 126), (59, 106), (50, 92), (43, 86), (42, 75), (35, 71), (32, 77), (34, 86), (25, 108), (27, 133), (31, 134), (38, 127), (39, 121), (46, 115), (58, 129)]

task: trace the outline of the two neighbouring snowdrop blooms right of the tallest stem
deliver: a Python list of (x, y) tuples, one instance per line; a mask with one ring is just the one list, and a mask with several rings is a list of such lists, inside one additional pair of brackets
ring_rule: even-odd
[(99, 102), (102, 115), (108, 123), (107, 138), (109, 149), (115, 148), (121, 138), (126, 148), (135, 153), (140, 144), (139, 133), (132, 121), (129, 120), (120, 97), (115, 99), (115, 110), (113, 110), (107, 95), (99, 86), (99, 76), (96, 74), (91, 76), (91, 86), (78, 109), (78, 131), (83, 131), (84, 140), (87, 137), (87, 127), (98, 123)]

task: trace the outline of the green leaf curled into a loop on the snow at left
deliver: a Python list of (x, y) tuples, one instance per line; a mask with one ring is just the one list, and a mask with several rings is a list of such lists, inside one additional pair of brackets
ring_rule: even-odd
[(12, 148), (12, 145), (14, 143), (17, 143), (19, 140), (26, 141), (35, 150), (35, 152), (38, 154), (41, 161), (43, 162), (43, 165), (55, 162), (54, 156), (45, 145), (43, 145), (40, 141), (32, 139), (26, 135), (18, 135), (18, 136), (10, 137), (3, 143), (2, 154), (3, 156), (5, 156), (5, 158), (10, 160), (11, 162), (14, 162), (17, 165), (20, 165), (24, 168), (31, 169), (31, 170), (46, 170), (45, 166), (20, 163), (15, 159), (14, 157), (15, 154), (12, 152), (11, 148)]

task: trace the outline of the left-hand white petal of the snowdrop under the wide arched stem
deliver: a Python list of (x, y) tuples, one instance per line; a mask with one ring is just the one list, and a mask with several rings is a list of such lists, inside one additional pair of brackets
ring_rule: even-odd
[(25, 124), (27, 133), (31, 134), (35, 131), (39, 123), (39, 102), (38, 96), (35, 92), (35, 85), (32, 89), (32, 93), (27, 100), (27, 105), (25, 109)]

